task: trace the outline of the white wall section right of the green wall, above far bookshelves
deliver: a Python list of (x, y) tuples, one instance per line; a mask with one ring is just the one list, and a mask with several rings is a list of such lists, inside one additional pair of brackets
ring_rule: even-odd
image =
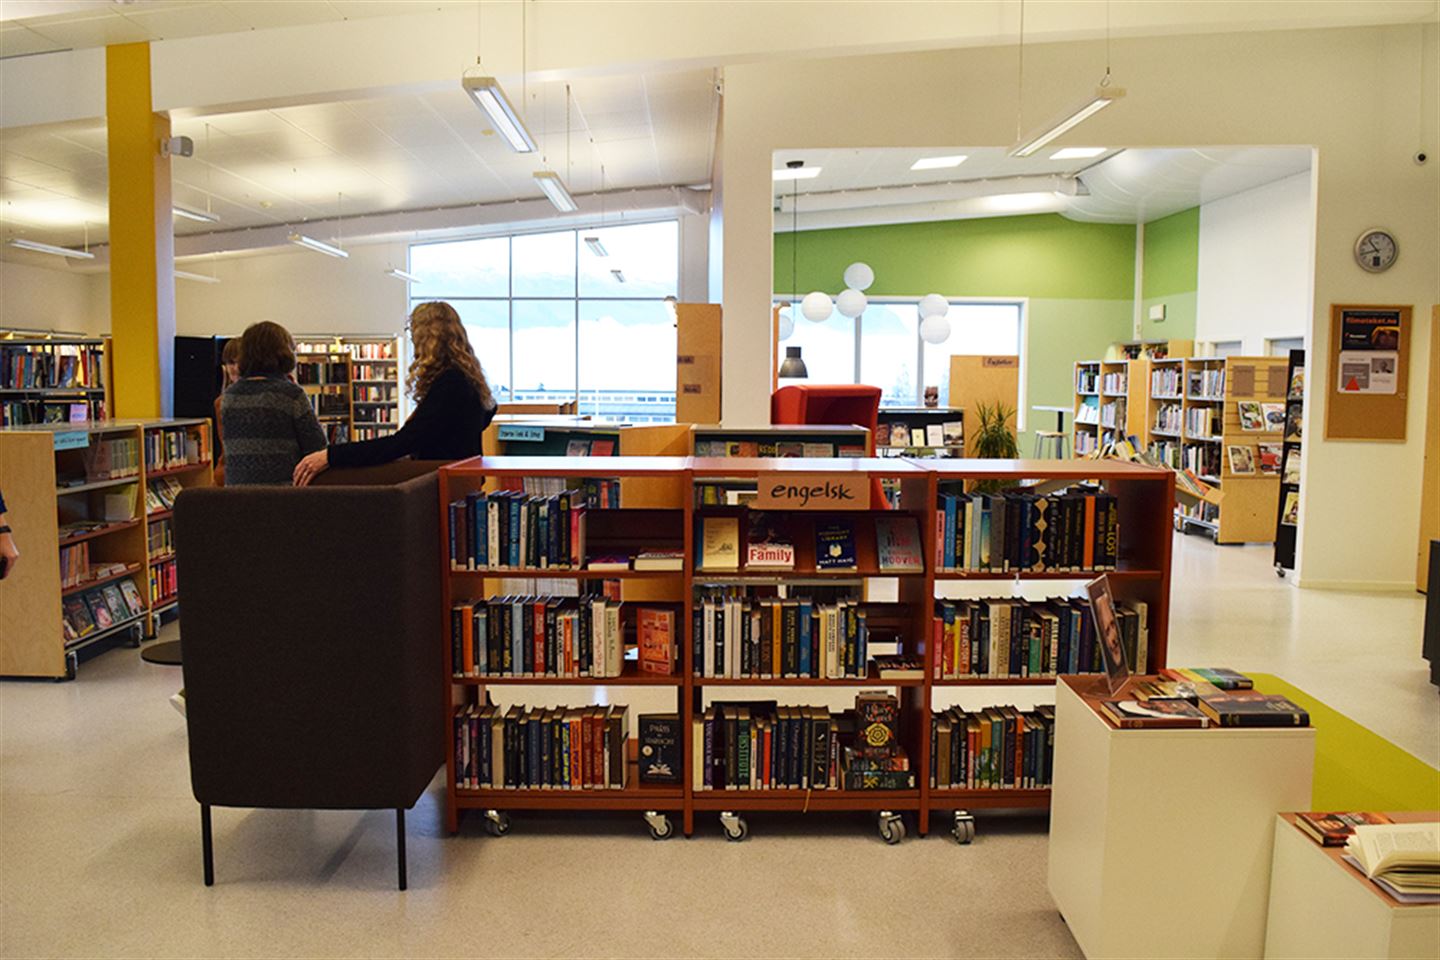
[(1315, 291), (1315, 196), (1309, 173), (1201, 204), (1195, 340), (1305, 337)]

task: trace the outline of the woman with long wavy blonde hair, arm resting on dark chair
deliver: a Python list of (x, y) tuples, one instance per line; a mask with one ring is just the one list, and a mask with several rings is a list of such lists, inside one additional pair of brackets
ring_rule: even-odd
[(405, 389), (416, 402), (410, 419), (390, 436), (311, 453), (295, 466), (297, 486), (330, 466), (373, 466), (403, 456), (461, 461), (480, 453), (480, 435), (495, 416), (495, 399), (459, 314), (441, 301), (420, 304), (410, 312), (409, 328), (415, 358)]

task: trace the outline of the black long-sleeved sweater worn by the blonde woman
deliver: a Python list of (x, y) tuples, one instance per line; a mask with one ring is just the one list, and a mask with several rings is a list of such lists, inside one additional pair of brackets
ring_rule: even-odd
[(474, 384), (451, 368), (435, 379), (425, 399), (390, 436), (330, 448), (330, 466), (373, 466), (402, 456), (415, 461), (462, 461), (480, 455), (480, 435), (495, 407), (480, 400)]

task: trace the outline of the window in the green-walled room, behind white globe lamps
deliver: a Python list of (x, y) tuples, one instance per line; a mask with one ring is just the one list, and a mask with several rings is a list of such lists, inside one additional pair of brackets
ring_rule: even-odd
[(950, 357), (1021, 356), (1024, 308), (1022, 301), (950, 301), (950, 335), (939, 344), (922, 340), (916, 298), (874, 298), (855, 320), (835, 312), (821, 324), (796, 308), (795, 332), (778, 344), (776, 363), (786, 347), (799, 347), (806, 383), (868, 383), (880, 387), (883, 406), (920, 406), (924, 387), (937, 386), (949, 403)]

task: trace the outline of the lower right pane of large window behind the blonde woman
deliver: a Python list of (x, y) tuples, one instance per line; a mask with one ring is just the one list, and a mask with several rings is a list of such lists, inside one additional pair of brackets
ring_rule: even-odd
[(675, 419), (675, 320), (662, 301), (580, 301), (580, 413)]

